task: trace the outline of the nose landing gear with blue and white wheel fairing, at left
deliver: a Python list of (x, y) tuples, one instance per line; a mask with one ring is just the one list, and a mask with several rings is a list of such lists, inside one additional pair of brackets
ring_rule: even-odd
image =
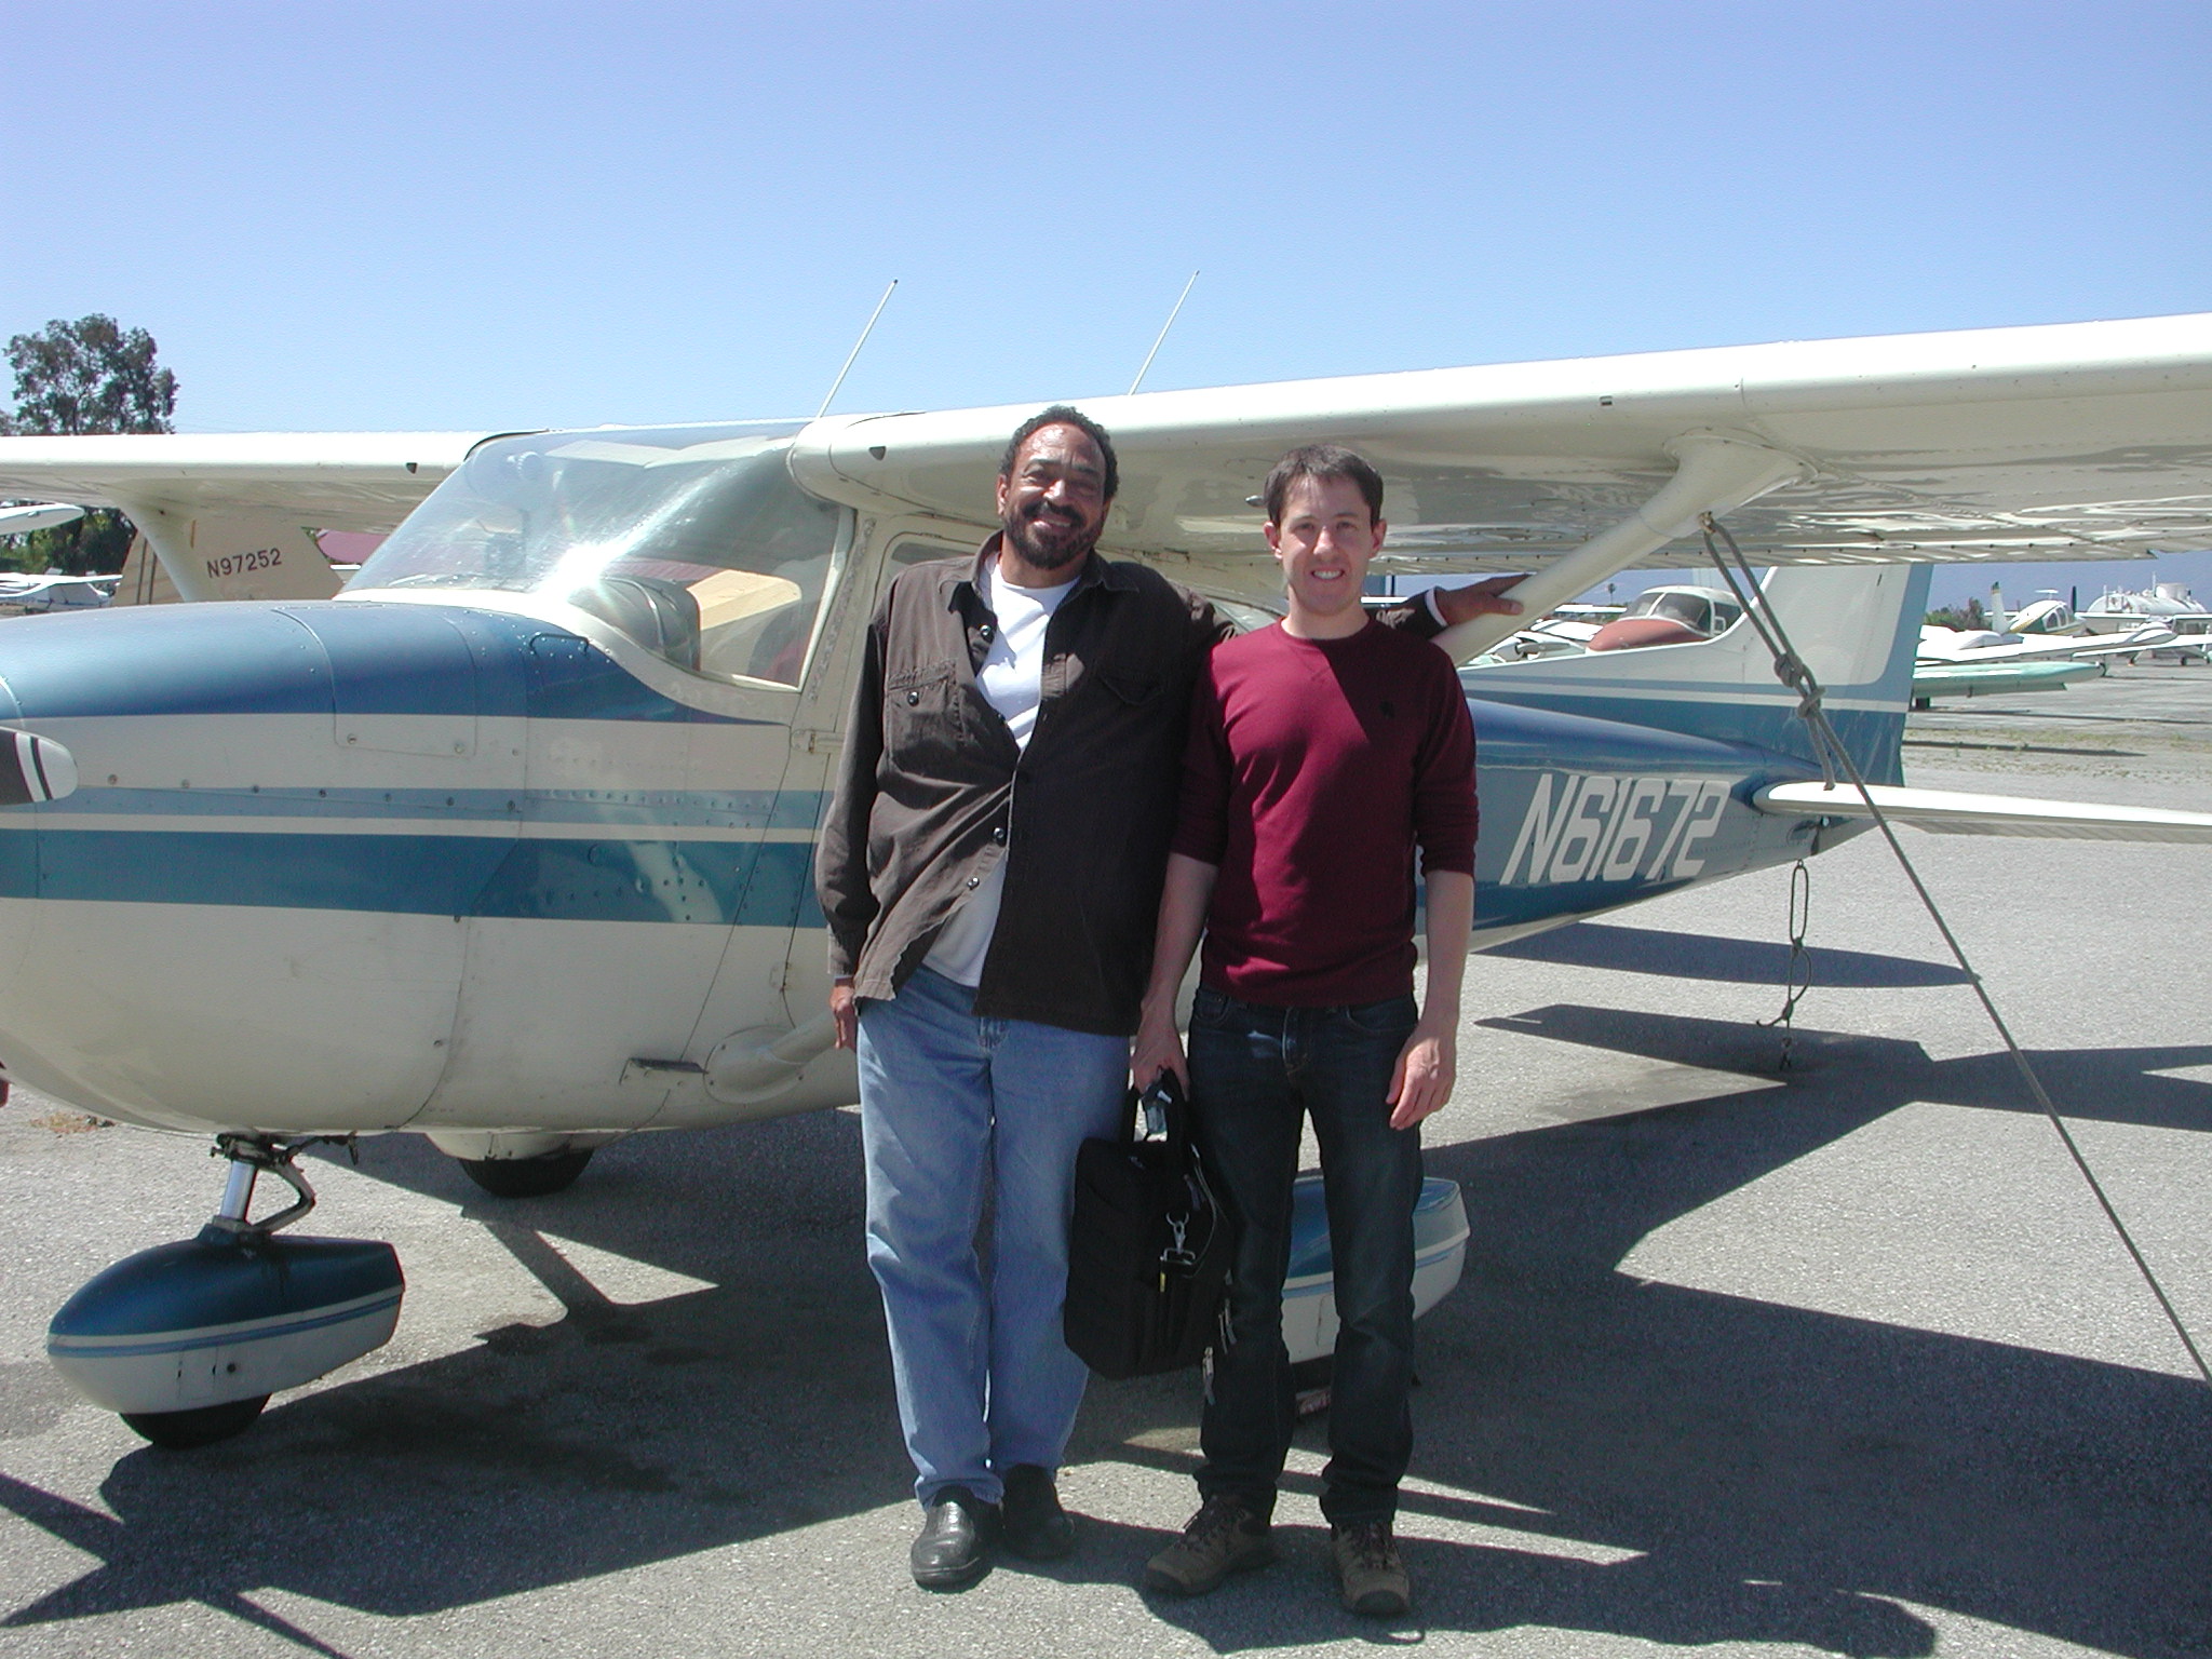
[[(221, 1208), (197, 1239), (142, 1250), (71, 1296), (46, 1329), (55, 1369), (157, 1447), (199, 1447), (250, 1425), (276, 1389), (392, 1340), (405, 1290), (392, 1245), (276, 1237), (314, 1208), (296, 1166), (310, 1144), (219, 1135)], [(263, 1170), (294, 1201), (252, 1221)]]

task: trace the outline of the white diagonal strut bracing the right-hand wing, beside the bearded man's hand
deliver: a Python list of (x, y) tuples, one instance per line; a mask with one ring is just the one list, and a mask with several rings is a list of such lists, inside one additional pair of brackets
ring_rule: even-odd
[(1478, 657), (1515, 628), (1528, 626), (1528, 619), (1595, 588), (1646, 553), (1688, 535), (1697, 529), (1701, 513), (1732, 513), (1743, 502), (1812, 476), (1812, 467), (1796, 456), (1721, 431), (1686, 431), (1666, 449), (1674, 456), (1674, 476), (1659, 487), (1657, 495), (1610, 531), (1593, 535), (1566, 557), (1553, 560), (1546, 568), (1513, 584), (1511, 593), (1522, 602), (1520, 617), (1475, 617), (1444, 628), (1436, 644), (1453, 661)]

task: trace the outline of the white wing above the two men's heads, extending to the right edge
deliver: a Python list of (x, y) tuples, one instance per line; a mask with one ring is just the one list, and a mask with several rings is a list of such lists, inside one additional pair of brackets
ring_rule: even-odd
[[(1389, 484), (1378, 568), (1531, 571), (1635, 515), (1710, 434), (1794, 462), (1730, 513), (1756, 562), (2141, 557), (2212, 540), (2212, 314), (1902, 334), (1086, 398), (1115, 438), (1106, 542), (1172, 571), (1259, 549), (1290, 445)], [(856, 507), (989, 524), (1035, 405), (818, 420), (792, 467)], [(1717, 495), (1725, 504), (1725, 491)], [(1674, 511), (1630, 562), (1699, 564)], [(1681, 507), (1679, 502), (1674, 504)], [(1648, 540), (1648, 538), (1646, 538)], [(1619, 568), (1619, 566), (1615, 566)], [(1601, 577), (1599, 577), (1601, 580)], [(1559, 595), (1573, 597), (1573, 595)]]

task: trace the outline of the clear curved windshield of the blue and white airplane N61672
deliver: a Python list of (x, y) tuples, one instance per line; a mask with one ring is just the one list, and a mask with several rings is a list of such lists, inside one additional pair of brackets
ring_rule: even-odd
[(478, 445), (347, 593), (564, 599), (695, 675), (796, 686), (845, 511), (785, 467), (796, 425)]

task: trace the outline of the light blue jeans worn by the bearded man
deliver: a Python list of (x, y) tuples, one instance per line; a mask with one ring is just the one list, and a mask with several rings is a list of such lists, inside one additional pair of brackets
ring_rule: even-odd
[(978, 1018), (929, 969), (860, 1002), (867, 1265), (925, 1506), (947, 1486), (995, 1504), (1015, 1464), (1060, 1469), (1088, 1380), (1060, 1332), (1075, 1152), (1115, 1133), (1126, 1084), (1128, 1037)]

